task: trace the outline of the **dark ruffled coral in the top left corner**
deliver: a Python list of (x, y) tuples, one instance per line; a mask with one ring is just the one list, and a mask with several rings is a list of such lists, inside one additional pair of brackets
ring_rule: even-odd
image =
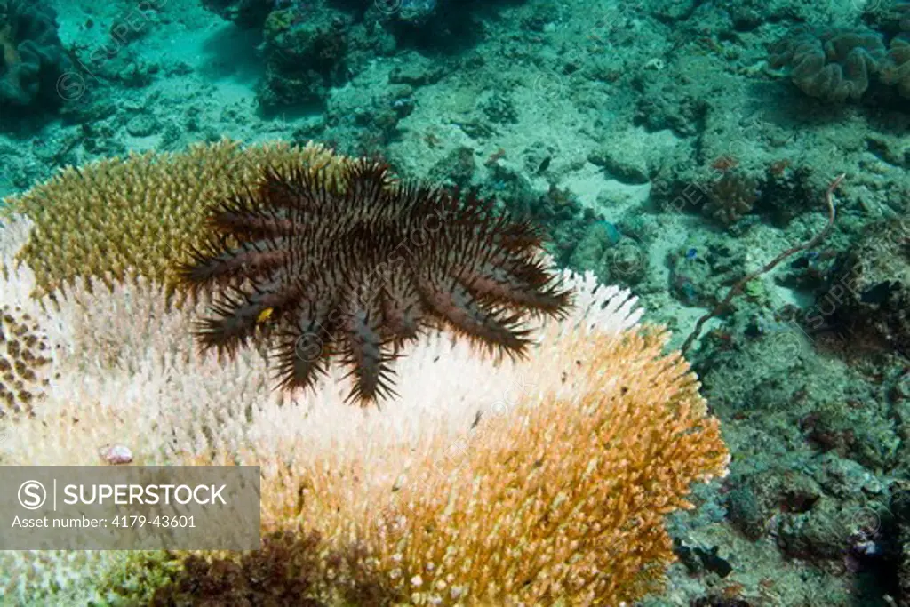
[(69, 60), (57, 36), (56, 12), (42, 2), (0, 4), (0, 109), (56, 106), (56, 80)]

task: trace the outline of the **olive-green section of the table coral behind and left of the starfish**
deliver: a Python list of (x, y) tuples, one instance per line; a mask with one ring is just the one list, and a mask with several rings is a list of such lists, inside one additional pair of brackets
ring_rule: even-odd
[(86, 277), (123, 278), (127, 268), (173, 287), (175, 263), (207, 239), (205, 218), (231, 192), (254, 186), (264, 167), (335, 170), (346, 162), (315, 144), (244, 148), (228, 140), (177, 154), (134, 153), (67, 167), (6, 198), (0, 217), (35, 221), (21, 255), (42, 292)]

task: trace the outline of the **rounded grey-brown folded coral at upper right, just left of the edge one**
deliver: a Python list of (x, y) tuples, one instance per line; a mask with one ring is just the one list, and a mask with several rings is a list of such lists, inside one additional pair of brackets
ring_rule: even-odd
[(882, 36), (869, 30), (798, 27), (771, 49), (770, 64), (787, 66), (806, 95), (833, 103), (859, 99), (885, 59)]

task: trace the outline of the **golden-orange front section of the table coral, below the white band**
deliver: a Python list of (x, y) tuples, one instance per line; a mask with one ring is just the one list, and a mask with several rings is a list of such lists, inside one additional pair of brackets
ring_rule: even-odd
[[(617, 309), (610, 289), (591, 300), (589, 288), (581, 292), (590, 309), (607, 302), (607, 310)], [(530, 368), (503, 369), (507, 402), (484, 410), (467, 401), (473, 421), (462, 419), (457, 434), (427, 436), (440, 428), (442, 410), (433, 403), (429, 425), (412, 427), (414, 436), (406, 431), (400, 442), (394, 430), (361, 427), (355, 450), (328, 439), (329, 451), (303, 449), (301, 436), (279, 449), (256, 446), (268, 470), (266, 530), (300, 524), (319, 533), (323, 542), (308, 551), (344, 557), (329, 567), (333, 585), (349, 595), (351, 581), (359, 581), (374, 592), (371, 601), (344, 604), (619, 605), (659, 590), (663, 568), (674, 560), (664, 515), (693, 508), (685, 500), (689, 484), (724, 474), (729, 455), (688, 365), (662, 354), (665, 334), (609, 337), (596, 326), (589, 333), (581, 318), (548, 327)], [(424, 365), (435, 365), (433, 358), (420, 355), (422, 372), (430, 372)], [(450, 401), (443, 410), (453, 407)], [(383, 418), (389, 429), (416, 421), (385, 415), (398, 418)], [(266, 456), (276, 449), (297, 453), (296, 464)], [(282, 550), (303, 550), (307, 532), (297, 537)], [(268, 561), (268, 551), (257, 559)], [(241, 561), (217, 568), (255, 576), (238, 581), (241, 589), (263, 575), (274, 576), (279, 590), (300, 582), (290, 577), (300, 575), (292, 567), (263, 571)], [(188, 582), (208, 577), (194, 567), (178, 583), (191, 589)], [(207, 598), (195, 588), (195, 595), (184, 592)]]

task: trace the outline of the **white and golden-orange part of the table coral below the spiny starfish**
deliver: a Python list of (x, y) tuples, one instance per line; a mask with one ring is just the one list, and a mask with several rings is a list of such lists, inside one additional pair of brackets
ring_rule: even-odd
[[(3, 462), (85, 464), (116, 442), (137, 464), (260, 465), (265, 533), (291, 531), (302, 550), (315, 532), (320, 555), (353, 557), (349, 568), (320, 560), (312, 601), (339, 604), (344, 584), (361, 580), (361, 592), (383, 592), (368, 604), (385, 592), (418, 604), (632, 602), (660, 587), (674, 558), (664, 516), (693, 508), (691, 483), (725, 474), (729, 454), (697, 379), (663, 353), (666, 334), (638, 325), (634, 299), (591, 275), (561, 280), (576, 307), (541, 319), (526, 360), (492, 366), (429, 335), (399, 361), (400, 400), (382, 411), (350, 407), (349, 379), (332, 370), (288, 402), (261, 379), (260, 353), (227, 365), (200, 357), (183, 325), (205, 302), (168, 310), (143, 278), (76, 285), (38, 319), (60, 327), (71, 354), (56, 361), (41, 410), (15, 420)], [(312, 561), (301, 553), (276, 569), (272, 557), (295, 548), (275, 549), (237, 555), (237, 566), (184, 555), (177, 573), (158, 560), (134, 590), (164, 583), (164, 597), (205, 604), (193, 580), (213, 582), (215, 601), (225, 575), (255, 574), (244, 592), (261, 590), (261, 575), (276, 592), (306, 585), (295, 576)], [(122, 572), (111, 559), (0, 554), (0, 588), (18, 602), (84, 604)]]

